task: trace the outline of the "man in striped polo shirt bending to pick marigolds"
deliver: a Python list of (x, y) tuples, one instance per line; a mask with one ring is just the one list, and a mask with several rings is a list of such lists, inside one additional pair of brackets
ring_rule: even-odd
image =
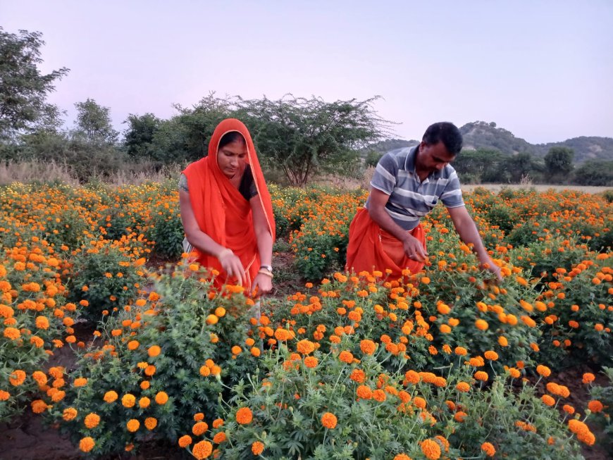
[(428, 127), (418, 146), (380, 159), (366, 205), (349, 226), (348, 270), (390, 269), (390, 275), (398, 278), (407, 268), (411, 273), (420, 271), (428, 251), (419, 220), (440, 200), (459, 237), (472, 244), (481, 266), (502, 279), (466, 211), (457, 173), (450, 165), (460, 150), (462, 134), (452, 123), (440, 122)]

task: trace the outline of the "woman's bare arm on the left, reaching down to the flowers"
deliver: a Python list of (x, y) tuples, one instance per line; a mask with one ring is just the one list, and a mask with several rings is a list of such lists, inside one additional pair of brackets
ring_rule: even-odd
[(226, 273), (228, 273), (229, 276), (235, 276), (238, 280), (238, 284), (242, 285), (244, 268), (242, 267), (240, 259), (238, 256), (235, 256), (230, 249), (213, 241), (209, 235), (206, 235), (205, 232), (200, 230), (196, 221), (196, 216), (194, 216), (194, 210), (192, 209), (190, 192), (186, 192), (183, 189), (179, 190), (179, 206), (181, 211), (181, 222), (183, 223), (183, 230), (185, 230), (187, 241), (200, 251), (211, 254), (211, 256), (219, 259)]

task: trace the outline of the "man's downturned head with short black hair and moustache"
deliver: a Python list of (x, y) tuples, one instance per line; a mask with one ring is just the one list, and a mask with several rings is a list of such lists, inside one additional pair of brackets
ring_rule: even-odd
[(428, 126), (419, 144), (416, 167), (431, 173), (442, 170), (462, 150), (462, 134), (453, 123), (442, 121)]

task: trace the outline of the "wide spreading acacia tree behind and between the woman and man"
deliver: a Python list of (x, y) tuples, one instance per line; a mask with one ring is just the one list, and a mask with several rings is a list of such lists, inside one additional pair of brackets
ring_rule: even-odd
[(377, 99), (238, 98), (236, 115), (249, 127), (267, 166), (283, 170), (291, 185), (302, 186), (315, 173), (346, 172), (339, 168), (359, 161), (357, 149), (388, 134), (391, 123), (373, 110)]

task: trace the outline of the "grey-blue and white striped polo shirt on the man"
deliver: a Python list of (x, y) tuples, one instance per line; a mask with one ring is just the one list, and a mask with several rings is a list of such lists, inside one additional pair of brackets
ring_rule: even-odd
[[(415, 171), (418, 146), (390, 151), (377, 164), (371, 186), (390, 195), (385, 211), (404, 230), (413, 230), (438, 200), (447, 208), (464, 206), (457, 173), (450, 165), (421, 182)], [(369, 197), (370, 199), (370, 197)], [(368, 209), (369, 199), (364, 207)]]

